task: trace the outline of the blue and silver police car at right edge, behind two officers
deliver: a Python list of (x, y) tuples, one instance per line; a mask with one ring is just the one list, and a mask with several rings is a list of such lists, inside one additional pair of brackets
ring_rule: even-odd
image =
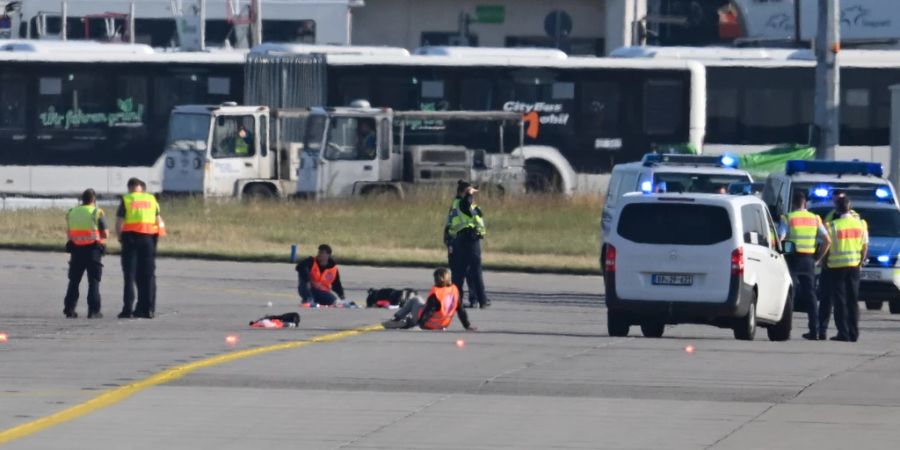
[[(869, 228), (869, 254), (859, 273), (859, 297), (869, 310), (880, 310), (887, 302), (892, 314), (900, 314), (900, 209), (883, 187), (846, 194)], [(826, 187), (813, 189), (809, 210), (824, 220), (834, 209), (831, 196)]]

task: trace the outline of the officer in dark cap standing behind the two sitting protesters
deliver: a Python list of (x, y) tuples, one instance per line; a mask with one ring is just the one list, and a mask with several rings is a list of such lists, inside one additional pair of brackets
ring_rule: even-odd
[(468, 279), (469, 289), (474, 292), (475, 300), (482, 308), (487, 308), (491, 303), (485, 294), (481, 271), (481, 240), (484, 239), (486, 229), (481, 209), (475, 204), (474, 195), (478, 189), (463, 182), (460, 184), (460, 192), (462, 196), (454, 200), (450, 210), (447, 229), (451, 240), (453, 284), (458, 290), (462, 290), (463, 282)]

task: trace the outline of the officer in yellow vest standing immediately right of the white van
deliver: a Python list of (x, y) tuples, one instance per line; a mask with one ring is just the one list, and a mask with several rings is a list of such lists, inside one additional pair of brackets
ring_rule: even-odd
[[(816, 299), (816, 266), (831, 247), (831, 237), (818, 215), (806, 210), (806, 195), (794, 192), (791, 199), (792, 211), (781, 221), (781, 239), (794, 244), (794, 251), (787, 255), (788, 268), (794, 281), (794, 296), (807, 305), (809, 333), (804, 339), (816, 341), (825, 338), (824, 330), (819, 332), (819, 302)], [(816, 257), (816, 242), (822, 242)]]

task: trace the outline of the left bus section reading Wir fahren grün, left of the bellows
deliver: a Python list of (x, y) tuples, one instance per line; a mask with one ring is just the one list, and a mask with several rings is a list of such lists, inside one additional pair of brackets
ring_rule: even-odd
[(243, 91), (242, 52), (0, 41), (0, 192), (101, 195), (160, 189), (169, 113)]

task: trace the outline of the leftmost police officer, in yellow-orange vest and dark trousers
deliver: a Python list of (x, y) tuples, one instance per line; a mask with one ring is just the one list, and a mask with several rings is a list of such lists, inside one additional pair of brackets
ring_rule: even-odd
[(88, 319), (103, 317), (100, 313), (100, 277), (103, 271), (104, 241), (109, 237), (103, 210), (97, 207), (97, 194), (87, 189), (81, 194), (81, 205), (66, 213), (69, 257), (69, 287), (63, 301), (63, 313), (78, 317), (78, 286), (84, 273), (88, 274)]

